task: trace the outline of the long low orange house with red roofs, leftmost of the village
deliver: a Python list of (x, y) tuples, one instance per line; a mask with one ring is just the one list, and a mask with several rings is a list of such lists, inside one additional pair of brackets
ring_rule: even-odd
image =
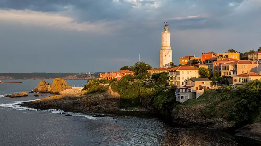
[(116, 72), (110, 72), (110, 74), (108, 74), (108, 72), (105, 72), (104, 74), (100, 73), (100, 77), (97, 78), (97, 79), (100, 80), (100, 79), (104, 78), (104, 79), (110, 80), (110, 79), (113, 79), (113, 78), (117, 78), (119, 80), (123, 76), (126, 76), (126, 75), (134, 76), (134, 73), (135, 72), (129, 71), (129, 70), (119, 70), (119, 71), (116, 71)]

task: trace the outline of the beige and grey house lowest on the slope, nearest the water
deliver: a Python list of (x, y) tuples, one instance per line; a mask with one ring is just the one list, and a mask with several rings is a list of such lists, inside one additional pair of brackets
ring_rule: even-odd
[(207, 78), (190, 78), (187, 85), (174, 88), (176, 101), (184, 102), (188, 99), (197, 99), (205, 89), (211, 88), (211, 81)]

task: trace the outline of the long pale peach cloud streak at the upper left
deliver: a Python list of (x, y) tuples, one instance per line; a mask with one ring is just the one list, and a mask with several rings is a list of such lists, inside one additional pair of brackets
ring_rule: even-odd
[(77, 30), (108, 34), (115, 28), (107, 22), (91, 24), (88, 22), (76, 23), (73, 18), (48, 12), (31, 10), (0, 10), (0, 21), (22, 23), (27, 25), (48, 26), (66, 30)]

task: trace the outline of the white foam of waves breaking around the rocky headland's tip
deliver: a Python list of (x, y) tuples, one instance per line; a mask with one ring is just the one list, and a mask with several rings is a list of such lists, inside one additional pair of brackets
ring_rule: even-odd
[[(28, 100), (28, 101), (13, 101), (13, 103), (6, 103), (6, 104), (1, 104), (0, 103), (0, 107), (3, 108), (11, 108), (14, 110), (31, 110), (31, 111), (41, 111), (41, 112), (48, 112), (48, 113), (52, 113), (52, 114), (70, 114), (72, 116), (81, 116), (81, 117), (85, 117), (87, 119), (90, 120), (99, 120), (102, 119), (100, 117), (93, 117), (93, 116), (88, 116), (88, 115), (84, 115), (84, 114), (80, 114), (80, 113), (74, 113), (74, 112), (64, 112), (63, 110), (57, 110), (57, 109), (48, 109), (48, 110), (39, 110), (39, 109), (33, 109), (33, 108), (28, 108), (28, 107), (22, 107), (18, 104), (23, 103), (23, 102), (30, 102), (30, 101), (36, 101), (39, 99), (35, 99), (35, 100)], [(109, 117), (106, 117), (107, 119), (111, 119)]]

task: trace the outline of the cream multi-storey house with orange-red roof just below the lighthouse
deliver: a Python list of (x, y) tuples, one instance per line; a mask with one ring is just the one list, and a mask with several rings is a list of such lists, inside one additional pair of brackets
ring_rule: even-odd
[(178, 87), (184, 86), (186, 81), (192, 77), (198, 78), (198, 69), (192, 66), (178, 66), (168, 69), (169, 84), (175, 84)]

